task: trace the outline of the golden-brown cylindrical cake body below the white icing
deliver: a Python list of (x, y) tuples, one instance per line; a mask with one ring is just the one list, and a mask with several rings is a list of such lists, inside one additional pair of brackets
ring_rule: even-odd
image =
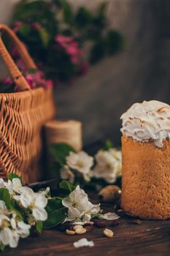
[(170, 218), (170, 141), (158, 148), (122, 137), (123, 210), (143, 219)]

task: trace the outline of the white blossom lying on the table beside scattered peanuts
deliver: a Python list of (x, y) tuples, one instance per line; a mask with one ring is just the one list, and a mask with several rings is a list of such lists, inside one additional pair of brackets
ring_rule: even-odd
[(88, 222), (91, 219), (91, 214), (98, 214), (100, 212), (100, 205), (93, 205), (88, 200), (88, 195), (80, 186), (77, 186), (74, 191), (62, 200), (63, 206), (68, 208), (68, 217), (66, 221), (69, 222)]

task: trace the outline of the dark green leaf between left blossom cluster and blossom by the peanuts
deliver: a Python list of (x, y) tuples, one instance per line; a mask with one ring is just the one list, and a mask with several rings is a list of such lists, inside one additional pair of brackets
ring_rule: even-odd
[(60, 224), (66, 219), (66, 208), (59, 208), (58, 210), (51, 211), (48, 213), (46, 222), (43, 222), (43, 228), (51, 228)]

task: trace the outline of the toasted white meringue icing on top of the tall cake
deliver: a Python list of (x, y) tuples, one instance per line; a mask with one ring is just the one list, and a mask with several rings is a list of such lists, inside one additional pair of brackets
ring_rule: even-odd
[(163, 140), (170, 139), (170, 106), (157, 100), (135, 103), (120, 117), (120, 129), (126, 137), (134, 140), (155, 141), (159, 148)]

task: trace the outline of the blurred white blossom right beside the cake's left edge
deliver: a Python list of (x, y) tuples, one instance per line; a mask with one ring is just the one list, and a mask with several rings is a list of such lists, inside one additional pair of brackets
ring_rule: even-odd
[(109, 151), (100, 150), (95, 156), (96, 167), (93, 169), (93, 176), (104, 178), (108, 183), (114, 183), (118, 176), (121, 176), (121, 152), (115, 148)]

